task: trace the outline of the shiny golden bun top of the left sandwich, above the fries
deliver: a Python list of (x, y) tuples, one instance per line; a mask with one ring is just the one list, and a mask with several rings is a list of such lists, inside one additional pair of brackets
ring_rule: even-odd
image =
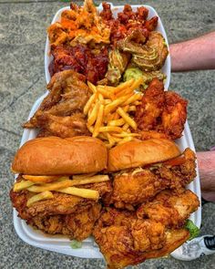
[(107, 148), (92, 137), (38, 138), (27, 141), (15, 154), (12, 170), (30, 175), (66, 175), (107, 168)]

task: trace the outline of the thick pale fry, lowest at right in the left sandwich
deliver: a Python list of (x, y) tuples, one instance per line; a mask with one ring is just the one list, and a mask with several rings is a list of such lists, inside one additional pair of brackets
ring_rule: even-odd
[(94, 190), (87, 190), (87, 189), (79, 189), (75, 187), (68, 187), (65, 189), (60, 189), (58, 190), (59, 192), (79, 196), (82, 198), (87, 198), (87, 199), (93, 199), (93, 200), (98, 200), (99, 198), (99, 192), (94, 191)]

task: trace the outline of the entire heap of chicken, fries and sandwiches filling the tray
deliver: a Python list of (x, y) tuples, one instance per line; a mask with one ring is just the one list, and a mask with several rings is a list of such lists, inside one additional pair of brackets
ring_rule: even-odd
[(37, 138), (12, 163), (19, 217), (78, 242), (94, 235), (109, 268), (171, 253), (200, 204), (186, 190), (195, 154), (174, 142), (187, 100), (164, 90), (168, 48), (147, 17), (125, 5), (115, 19), (107, 3), (97, 14), (88, 0), (48, 28), (49, 93), (24, 124)]

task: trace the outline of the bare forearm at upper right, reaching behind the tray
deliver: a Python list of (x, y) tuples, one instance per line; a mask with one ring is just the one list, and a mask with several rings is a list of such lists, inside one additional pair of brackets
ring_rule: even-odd
[(169, 47), (173, 72), (215, 69), (215, 31)]

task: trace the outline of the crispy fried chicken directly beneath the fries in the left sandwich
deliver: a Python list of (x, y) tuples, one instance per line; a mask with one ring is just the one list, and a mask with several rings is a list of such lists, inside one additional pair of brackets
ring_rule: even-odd
[[(19, 177), (18, 181), (20, 180), (21, 177)], [(109, 181), (107, 181), (81, 185), (80, 188), (99, 191), (99, 196), (102, 198), (111, 191), (111, 184)], [(35, 195), (34, 192), (26, 190), (15, 192), (12, 189), (10, 191), (10, 199), (19, 216), (26, 221), (36, 216), (45, 217), (55, 214), (82, 212), (96, 203), (96, 201), (91, 199), (80, 198), (74, 195), (60, 193), (57, 191), (52, 192), (54, 195), (53, 199), (35, 202), (30, 207), (26, 206), (26, 202), (30, 197)]]

